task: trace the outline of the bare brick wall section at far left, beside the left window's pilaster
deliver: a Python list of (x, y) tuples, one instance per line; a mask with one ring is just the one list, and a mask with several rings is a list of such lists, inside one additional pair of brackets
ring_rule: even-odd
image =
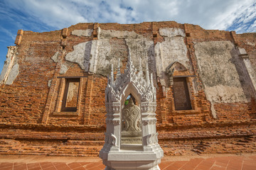
[(1, 122), (41, 123), (48, 97), (48, 80), (55, 70), (50, 57), (58, 50), (59, 34), (60, 31), (23, 33), (16, 57), (18, 77), (14, 84), (3, 84), (0, 89)]

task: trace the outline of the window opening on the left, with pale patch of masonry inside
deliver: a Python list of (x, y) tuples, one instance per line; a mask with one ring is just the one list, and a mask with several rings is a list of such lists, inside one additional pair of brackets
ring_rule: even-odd
[(79, 86), (80, 79), (66, 79), (61, 111), (77, 111)]

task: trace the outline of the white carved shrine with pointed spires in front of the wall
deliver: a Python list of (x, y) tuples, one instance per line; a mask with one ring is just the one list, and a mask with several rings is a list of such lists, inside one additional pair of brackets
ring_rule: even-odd
[(144, 78), (141, 62), (137, 73), (129, 54), (124, 74), (118, 64), (115, 80), (112, 66), (105, 103), (107, 132), (100, 151), (105, 169), (159, 169), (164, 152), (156, 132), (156, 88), (147, 65)]

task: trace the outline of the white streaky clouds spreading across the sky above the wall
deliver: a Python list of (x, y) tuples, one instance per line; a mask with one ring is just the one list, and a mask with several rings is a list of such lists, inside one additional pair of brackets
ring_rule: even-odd
[[(46, 27), (64, 28), (75, 23), (140, 23), (177, 21), (193, 23), (206, 29), (225, 30), (242, 23), (240, 31), (255, 30), (256, 0), (13, 0), (11, 8), (26, 13), (28, 21), (37, 20)], [(254, 5), (253, 5), (254, 4)], [(26, 18), (22, 19), (26, 21)], [(28, 23), (29, 24), (29, 23)], [(36, 27), (36, 26), (35, 26)]]

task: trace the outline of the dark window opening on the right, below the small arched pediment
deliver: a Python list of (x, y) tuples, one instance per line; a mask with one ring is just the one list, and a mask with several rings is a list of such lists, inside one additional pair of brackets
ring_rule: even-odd
[(174, 78), (174, 106), (176, 111), (192, 109), (186, 77)]

